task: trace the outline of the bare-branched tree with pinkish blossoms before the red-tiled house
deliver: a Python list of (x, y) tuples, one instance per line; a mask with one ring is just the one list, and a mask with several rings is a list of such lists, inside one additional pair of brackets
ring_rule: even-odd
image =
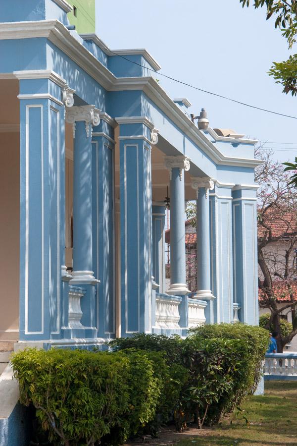
[[(260, 306), (270, 310), (267, 329), (272, 325), (279, 335), (278, 351), (297, 335), (297, 189), (281, 163), (272, 159), (272, 152), (261, 146), (255, 158), (263, 163), (256, 168), (258, 183), (258, 285)], [(291, 312), (293, 330), (281, 335), (280, 315)]]

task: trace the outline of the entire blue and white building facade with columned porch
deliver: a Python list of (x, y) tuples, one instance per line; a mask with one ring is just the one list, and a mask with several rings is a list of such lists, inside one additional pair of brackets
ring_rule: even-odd
[[(205, 112), (196, 125), (189, 101), (154, 80), (160, 66), (146, 50), (111, 51), (69, 29), (72, 13), (65, 0), (1, 7), (0, 340), (86, 347), (186, 335), (233, 322), (237, 309), (256, 324), (255, 141), (219, 134)], [(197, 200), (192, 298), (187, 200)]]

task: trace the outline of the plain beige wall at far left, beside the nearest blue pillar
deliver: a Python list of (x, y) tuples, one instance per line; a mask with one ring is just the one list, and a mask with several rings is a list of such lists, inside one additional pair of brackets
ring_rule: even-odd
[(0, 339), (19, 327), (19, 133), (0, 133)]

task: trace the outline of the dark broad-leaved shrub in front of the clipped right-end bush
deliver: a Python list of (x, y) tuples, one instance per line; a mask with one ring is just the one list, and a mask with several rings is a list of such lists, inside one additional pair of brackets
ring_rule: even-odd
[(184, 361), (190, 378), (184, 387), (178, 430), (194, 415), (198, 428), (204, 421), (217, 423), (238, 399), (248, 375), (247, 342), (239, 339), (202, 339), (194, 334), (185, 339)]

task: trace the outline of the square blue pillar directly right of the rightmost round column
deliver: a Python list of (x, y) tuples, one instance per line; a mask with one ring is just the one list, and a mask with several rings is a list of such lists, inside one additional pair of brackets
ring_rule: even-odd
[(232, 184), (215, 182), (209, 193), (210, 264), (214, 322), (233, 322)]

